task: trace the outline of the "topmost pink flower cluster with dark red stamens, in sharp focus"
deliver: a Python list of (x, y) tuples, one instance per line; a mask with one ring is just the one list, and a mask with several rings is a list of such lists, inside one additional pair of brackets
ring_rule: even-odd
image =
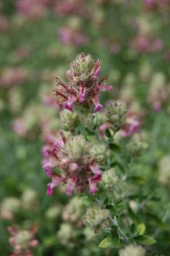
[(93, 107), (93, 112), (100, 111), (103, 108), (99, 101), (100, 90), (111, 90), (112, 87), (105, 84), (107, 77), (98, 80), (99, 74), (100, 61), (95, 63), (90, 55), (81, 53), (70, 64), (70, 70), (67, 72), (69, 84), (63, 84), (56, 78), (57, 87), (54, 93), (57, 104), (70, 111), (74, 110), (74, 105)]

